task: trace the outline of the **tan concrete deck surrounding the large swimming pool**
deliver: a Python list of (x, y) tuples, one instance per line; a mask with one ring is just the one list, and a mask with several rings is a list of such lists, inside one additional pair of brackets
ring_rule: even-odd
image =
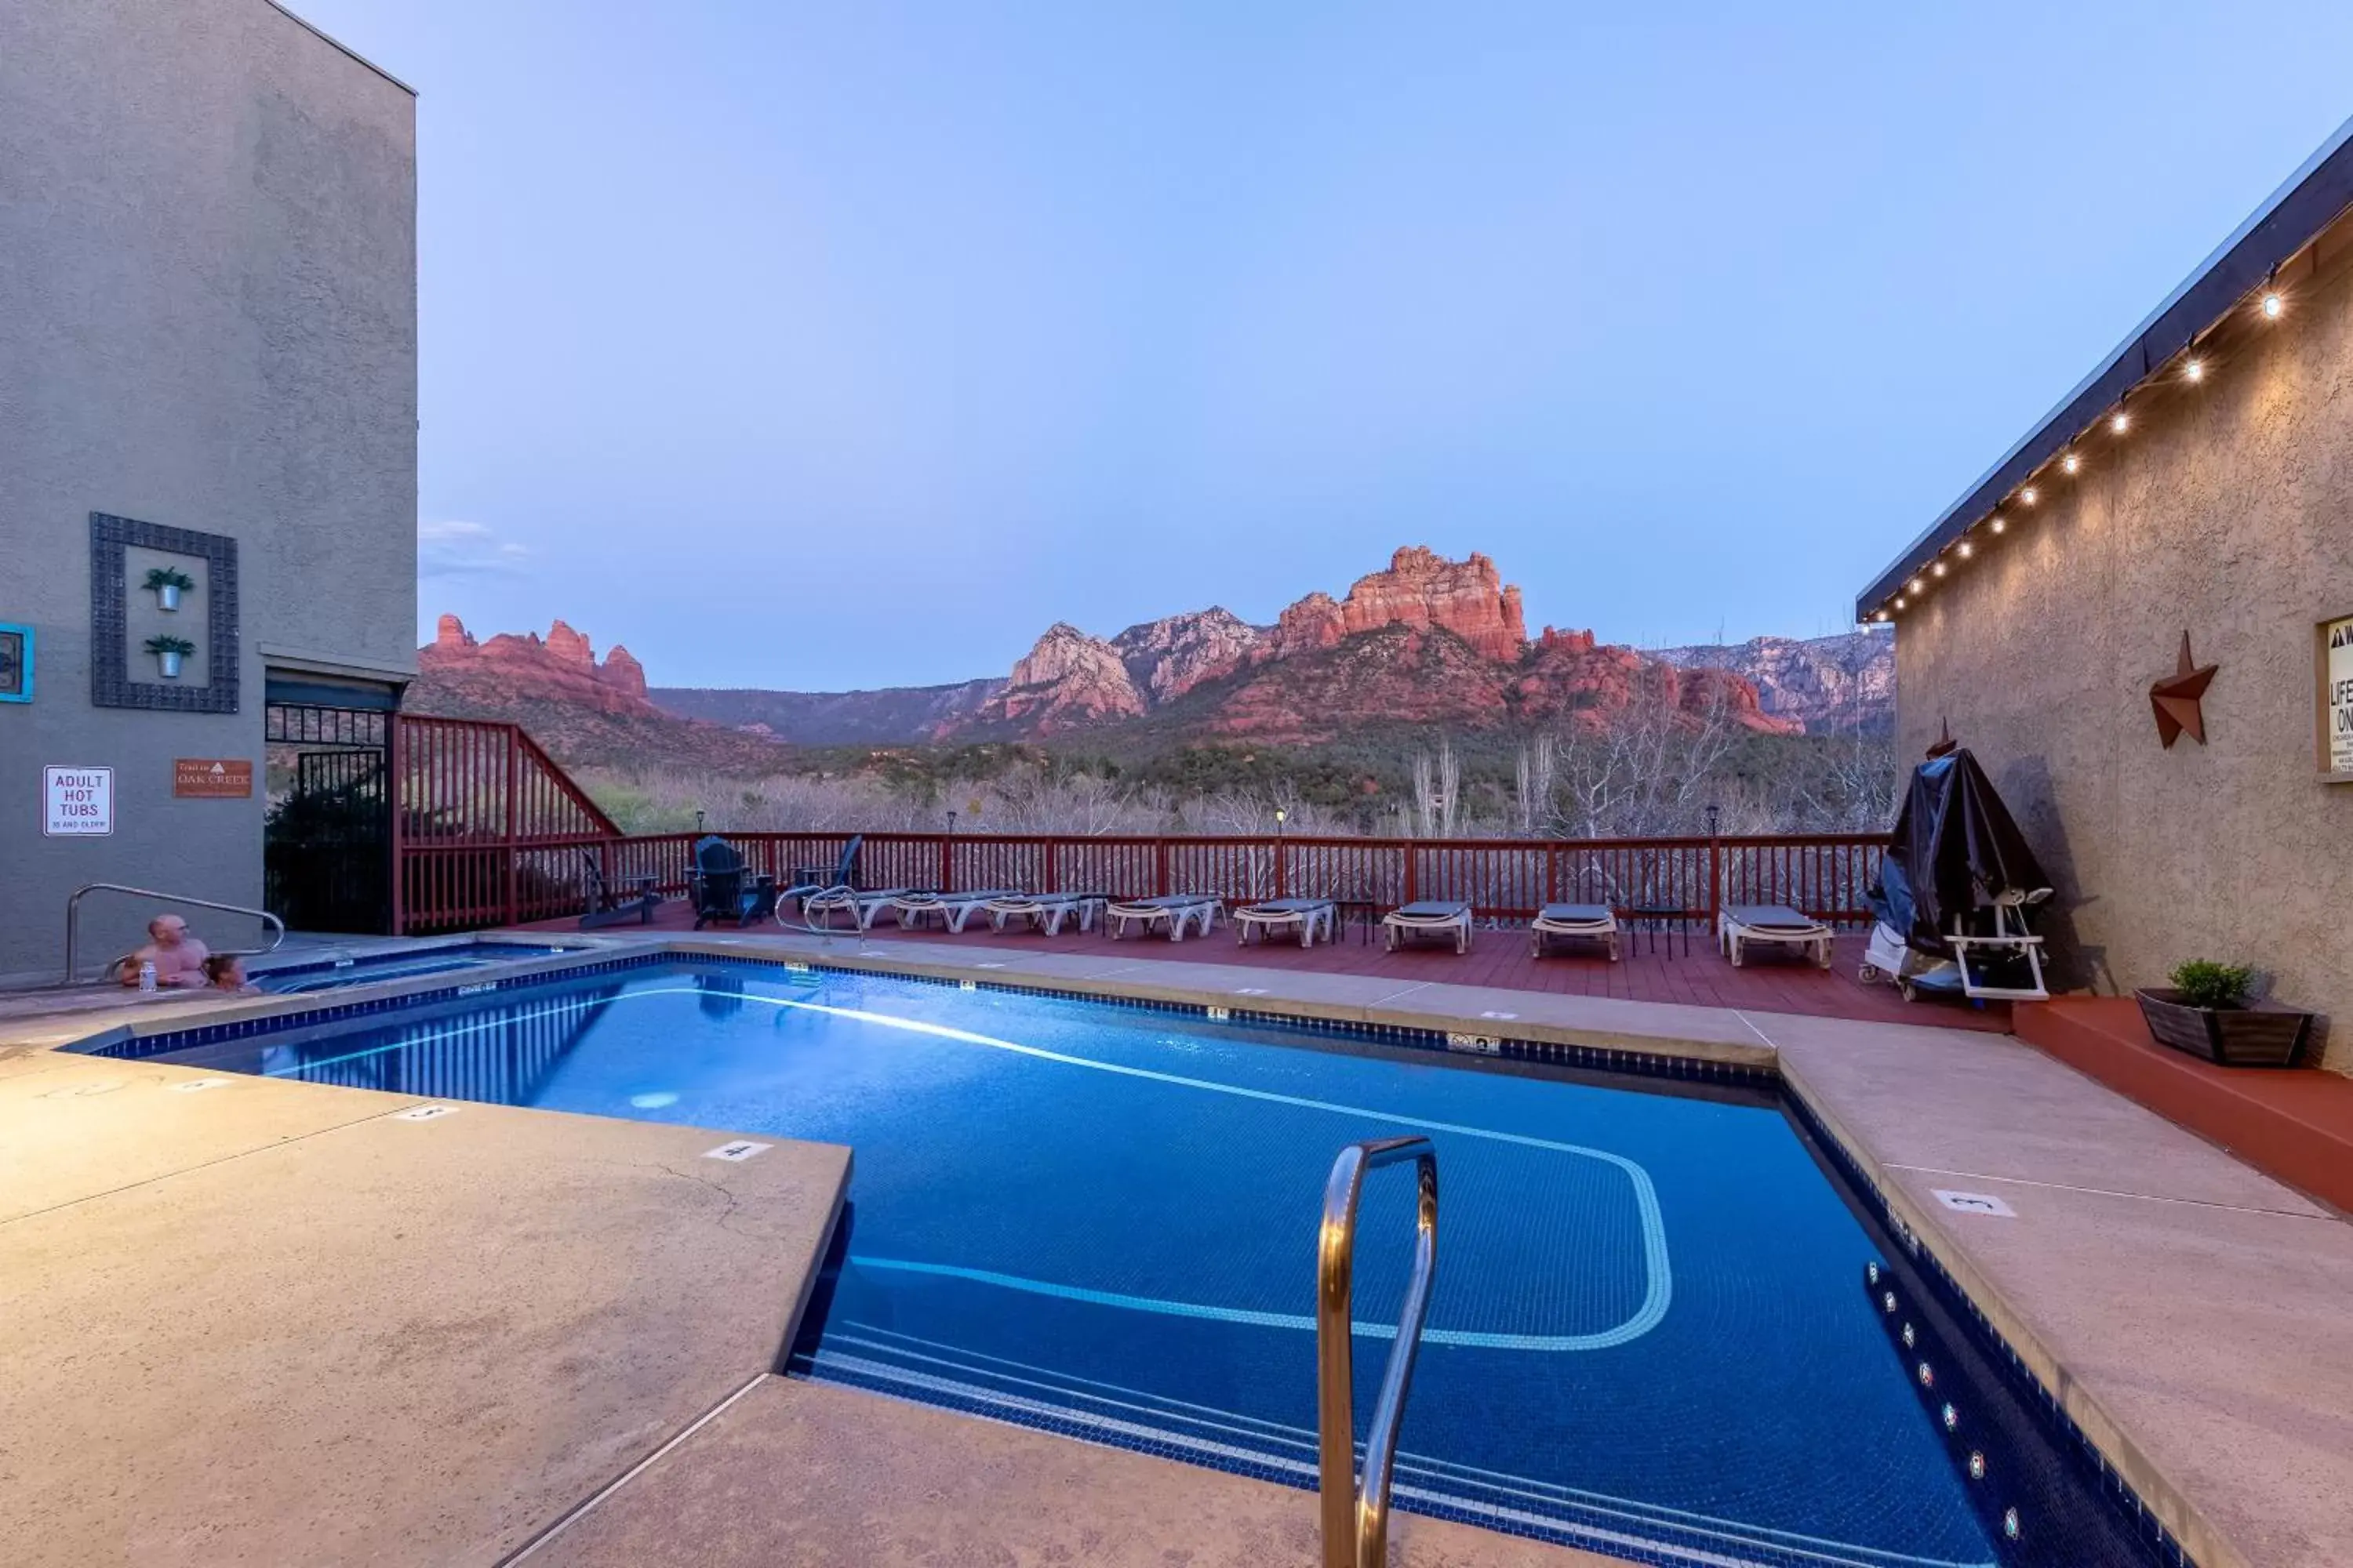
[[(751, 950), (1779, 1067), (2205, 1568), (2353, 1561), (2353, 1225), (2012, 1039), (988, 943), (873, 938), (859, 954), (847, 936), (720, 933), (600, 947)], [(824, 1164), (842, 1161), (838, 1150), (776, 1145), (788, 1159), (729, 1166), (701, 1159), (720, 1140), (708, 1131), (487, 1105), (402, 1124), (386, 1119), (412, 1105), (395, 1095), (233, 1074), (179, 1091), (205, 1074), (47, 1048), (122, 1018), (153, 1032), (195, 1011), (0, 1023), (0, 1272), (12, 1281), (0, 1356), (28, 1368), (33, 1415), (0, 1434), (0, 1528), (35, 1552), (64, 1530), (52, 1556), (31, 1561), (278, 1561), (275, 1547), (296, 1540), (289, 1556), (499, 1561), (774, 1366), (821, 1237), (812, 1215), (831, 1218), (840, 1190), (842, 1166)], [(1958, 1213), (1939, 1190), (1995, 1194), (2014, 1215)], [(746, 1246), (746, 1229), (762, 1241)], [(1257, 1486), (880, 1396), (755, 1385), (532, 1561), (652, 1540), (661, 1507), (640, 1497), (729, 1495), (760, 1474), (746, 1469), (760, 1450), (908, 1474), (934, 1465), (951, 1479), (976, 1467), (1059, 1500), (1064, 1514), (1019, 1507), (1031, 1493), (1000, 1497), (1002, 1549), (986, 1561), (1056, 1561), (1064, 1537), (1045, 1521), (1092, 1519), (1071, 1512), (1075, 1500), (1127, 1497), (1129, 1472), (1151, 1495), (1226, 1497), (1198, 1507), (1245, 1507), (1235, 1486)], [(932, 1540), (936, 1561), (962, 1561), (918, 1528), (934, 1509), (922, 1488), (887, 1500), (819, 1469), (802, 1490), (861, 1530), (845, 1540), (896, 1521), (908, 1549)], [(1231, 1540), (1289, 1542), (1297, 1528), (1282, 1521), (1313, 1516), (1304, 1493), (1268, 1490), (1259, 1519), (1273, 1535)], [(1151, 1519), (1158, 1505), (1120, 1507)], [(755, 1514), (746, 1502), (732, 1528), (767, 1542), (760, 1561), (826, 1561), (793, 1544), (802, 1537), (784, 1514)], [(1457, 1547), (1412, 1523), (1412, 1537), (1400, 1526), (1400, 1544), (1414, 1542), (1405, 1561), (1534, 1561), (1511, 1556), (1527, 1547), (1511, 1537), (1466, 1530)], [(673, 1512), (668, 1528), (680, 1542), (668, 1559), (576, 1561), (725, 1561), (685, 1552), (704, 1542), (701, 1521)]]

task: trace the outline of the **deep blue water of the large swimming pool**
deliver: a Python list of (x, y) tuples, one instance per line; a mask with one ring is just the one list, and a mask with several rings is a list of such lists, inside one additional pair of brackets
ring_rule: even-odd
[[(1400, 1507), (1715, 1568), (2158, 1561), (1769, 1088), (725, 961), (179, 1060), (847, 1143), (838, 1274), (791, 1371), (1306, 1486), (1325, 1175), (1351, 1140), (1428, 1133)], [(1360, 1422), (1409, 1187), (1365, 1192)]]

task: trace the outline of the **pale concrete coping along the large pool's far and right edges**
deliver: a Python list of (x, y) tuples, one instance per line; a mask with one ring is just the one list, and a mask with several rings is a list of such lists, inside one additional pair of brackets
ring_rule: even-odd
[[(473, 940), (494, 938), (494, 933), (471, 936)], [(522, 945), (544, 945), (527, 943), (525, 933), (515, 933), (515, 940)], [(892, 947), (889, 943), (871, 938), (852, 943), (849, 933), (840, 933), (833, 943), (824, 943), (821, 938), (774, 936), (588, 938), (579, 940), (576, 947), (565, 954), (544, 954), (513, 966), (501, 966), (501, 971), (487, 983), (471, 980), (466, 985), (452, 985), (452, 976), (442, 971), (421, 978), (362, 983), (348, 987), (346, 992), (240, 997), (214, 1009), (174, 1011), (172, 1016), (151, 1016), (134, 1020), (132, 1025), (118, 1023), (111, 1030), (85, 1034), (73, 1041), (73, 1046), (106, 1056), (136, 1056), (136, 1051), (125, 1051), (125, 1046), (134, 1046), (136, 1041), (153, 1037), (221, 1030), (216, 1039), (228, 1039), (264, 1030), (294, 1027), (299, 1016), (306, 1013), (353, 1016), (365, 1011), (388, 1011), (445, 997), (454, 999), (461, 994), (506, 990), (508, 985), (558, 978), (569, 971), (619, 971), (666, 959), (706, 957), (722, 961), (776, 964), (786, 969), (880, 973), (1129, 1006), (1169, 1006), (1200, 1011), (1209, 1018), (1228, 1018), (1233, 1023), (1294, 1027), (1329, 1025), (1332, 1032), (1433, 1048), (1438, 1056), (1466, 1053), (1473, 1058), (1537, 1060), (1642, 1077), (1779, 1086), (1807, 1131), (1812, 1131), (1831, 1150), (1835, 1164), (1845, 1168), (1845, 1175), (1857, 1194), (1880, 1208), (1885, 1225), (1899, 1244), (1908, 1246), (1915, 1260), (1932, 1265), (1934, 1274), (1939, 1274), (1941, 1281), (1955, 1293), (1993, 1345), (2026, 1378), (2031, 1378), (2031, 1382), (2040, 1389), (2059, 1434), (2078, 1439), (2085, 1453), (2101, 1467), (2106, 1479), (2141, 1512), (2160, 1556), (2169, 1552), (2174, 1561), (2198, 1563), (2200, 1568), (2252, 1568), (2252, 1559), (2247, 1559), (2205, 1519), (2184, 1490), (2174, 1486), (2165, 1469), (2151, 1460), (2144, 1446), (2134, 1441), (2125, 1422), (2120, 1422), (2071, 1371), (2066, 1356), (2042, 1340), (2042, 1335), (2033, 1328), (2028, 1312), (2021, 1309), (2019, 1302), (2009, 1300), (1988, 1272), (1972, 1260), (1967, 1244), (1948, 1225), (1937, 1220), (1920, 1201), (1904, 1192), (1882, 1161), (1871, 1152), (1871, 1143), (1854, 1126), (1852, 1112), (1842, 1112), (1835, 1105), (1835, 1095), (1826, 1093), (1802, 1067), (1788, 1060), (1788, 1053), (1781, 1048), (1784, 1041), (1777, 1041), (1774, 1034), (1798, 1020), (1781, 1020), (1777, 1016), (1751, 1018), (1732, 1009), (1678, 1009), (1671, 1004), (1635, 1001), (1612, 1001), (1602, 1009), (1602, 1016), (1617, 1027), (1593, 1027), (1544, 1018), (1485, 1020), (1468, 1016), (1464, 1004), (1457, 1001), (1457, 992), (1471, 992), (1473, 987), (1398, 987), (1393, 980), (1377, 978), (1287, 976), (1280, 971), (1247, 971), (1247, 978), (1264, 980), (1266, 985), (1233, 987), (1221, 980), (1242, 971), (1226, 976), (1200, 973), (1219, 969), (1214, 964), (1195, 966), (1165, 959), (1134, 966), (1106, 966), (1104, 961), (1075, 959), (1061, 959), (1061, 964), (1056, 964), (1056, 954), (1014, 952), (1009, 959), (995, 959), (988, 957), (993, 952), (1009, 950), (969, 947), (941, 952), (936, 945)], [(1285, 997), (1280, 994), (1285, 980), (1299, 980), (1325, 990), (1327, 994)], [(1332, 994), (1337, 980), (1362, 980), (1362, 987), (1355, 987), (1355, 994), (1351, 994), (1351, 987), (1341, 985), (1337, 987), (1339, 994)], [(1242, 997), (1245, 990), (1247, 999)], [(1409, 997), (1419, 1001), (1419, 1006), (1409, 1001)], [(1518, 992), (1513, 997), (1520, 1001), (1532, 999), (1529, 994)], [(1454, 1001), (1454, 1006), (1433, 1009), (1428, 1006), (1431, 1001)], [(1605, 999), (1565, 997), (1558, 1001), (1591, 1006)], [(1666, 1016), (1671, 1023), (1687, 1023), (1687, 1013), (1727, 1011), (1734, 1016), (1737, 1027), (1722, 1020), (1711, 1020), (1715, 1023), (1715, 1027), (1708, 1030), (1708, 1034), (1715, 1034), (1713, 1039), (1675, 1027), (1661, 1027), (1659, 1032), (1635, 1032), (1624, 1027), (1624, 1023), (1642, 1016)], [(1478, 1023), (1487, 1027), (1447, 1030), (1447, 1023)], [(1499, 1025), (1506, 1023), (1508, 1030), (1499, 1030)], [(1859, 1032), (1859, 1037), (1885, 1034), (1889, 1030), (1920, 1037), (1962, 1034), (1958, 1030), (1939, 1032), (1920, 1025), (1842, 1020), (1802, 1023), (1812, 1027), (1817, 1044), (1819, 1037), (1840, 1032)], [(1746, 1044), (1734, 1039), (1732, 1034), (1739, 1030), (1746, 1030), (1755, 1039)], [(2002, 1037), (1974, 1034), (1969, 1039), (2000, 1041)], [(195, 1044), (202, 1041), (176, 1044), (172, 1048), (191, 1048)], [(1798, 1041), (1788, 1039), (1786, 1044)], [(2085, 1079), (2085, 1086), (2092, 1093), (2108, 1093), (2097, 1084), (2089, 1084), (2089, 1079)]]

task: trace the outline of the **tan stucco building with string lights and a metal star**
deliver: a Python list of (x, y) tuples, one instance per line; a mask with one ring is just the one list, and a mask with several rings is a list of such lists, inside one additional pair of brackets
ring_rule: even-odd
[(2252, 964), (2278, 1001), (2334, 1016), (2339, 1072), (2348, 207), (2353, 125), (1857, 599), (1897, 625), (1904, 750), (1951, 724), (2059, 884), (2040, 922), (2059, 980), (2129, 992), (2184, 959)]

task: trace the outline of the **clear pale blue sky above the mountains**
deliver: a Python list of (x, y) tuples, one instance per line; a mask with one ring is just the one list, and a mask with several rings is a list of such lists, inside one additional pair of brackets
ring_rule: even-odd
[(426, 623), (656, 684), (1398, 543), (1838, 630), (2353, 113), (2341, 0), (296, 7), (421, 89)]

